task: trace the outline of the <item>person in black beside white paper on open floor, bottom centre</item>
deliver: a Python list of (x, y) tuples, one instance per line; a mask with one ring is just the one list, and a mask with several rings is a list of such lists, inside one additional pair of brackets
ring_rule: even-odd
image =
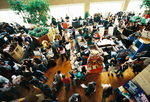
[(86, 94), (85, 95), (90, 95), (93, 94), (95, 92), (95, 82), (89, 82), (87, 88), (84, 88)]

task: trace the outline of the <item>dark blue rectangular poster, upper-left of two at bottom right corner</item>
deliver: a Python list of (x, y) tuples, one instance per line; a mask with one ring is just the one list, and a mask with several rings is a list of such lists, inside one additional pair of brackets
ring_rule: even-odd
[(138, 87), (135, 83), (133, 83), (131, 80), (129, 80), (127, 83), (123, 85), (123, 87), (131, 94), (136, 95), (140, 92), (142, 92), (142, 89)]

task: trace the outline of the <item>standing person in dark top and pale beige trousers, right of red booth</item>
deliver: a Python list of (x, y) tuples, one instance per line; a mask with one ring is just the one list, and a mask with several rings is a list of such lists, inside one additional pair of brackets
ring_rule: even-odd
[(117, 64), (116, 57), (113, 57), (110, 61), (110, 66), (109, 66), (109, 69), (108, 69), (108, 76), (110, 75), (110, 71), (111, 71), (111, 75), (113, 76), (116, 64)]

